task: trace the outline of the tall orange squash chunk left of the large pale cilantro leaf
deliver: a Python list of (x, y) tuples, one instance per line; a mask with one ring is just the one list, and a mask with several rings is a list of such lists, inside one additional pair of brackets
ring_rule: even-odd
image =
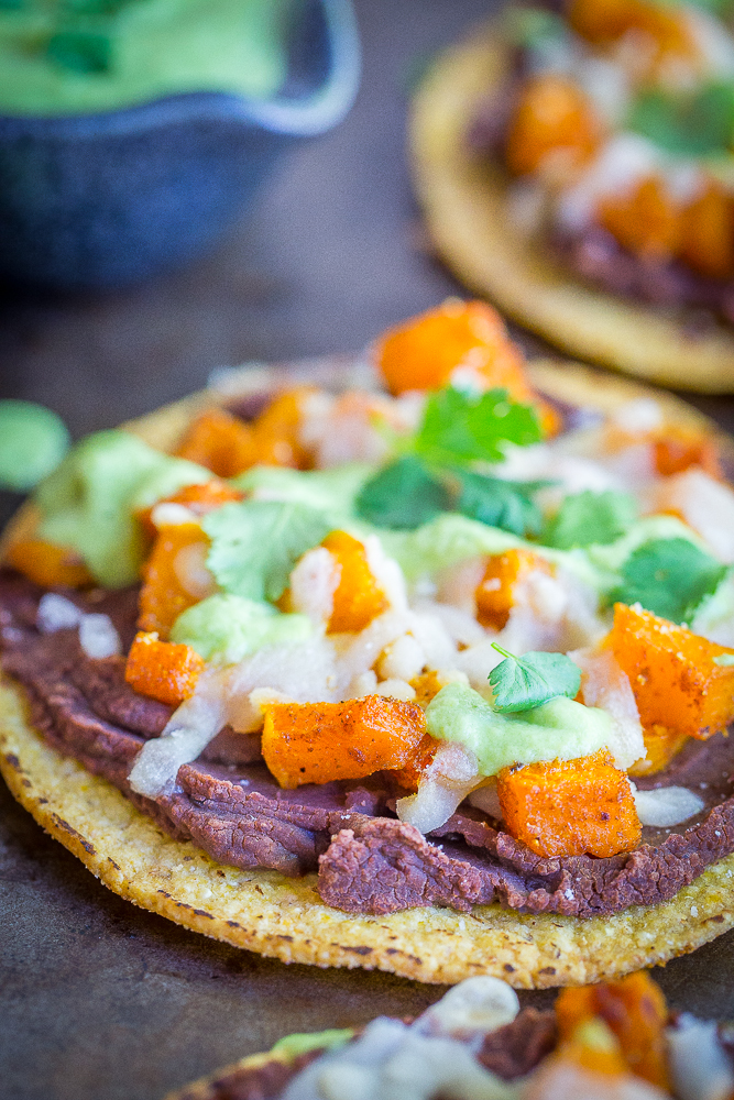
[(143, 566), (143, 586), (138, 602), (141, 630), (155, 630), (163, 639), (167, 638), (182, 612), (202, 598), (206, 593), (191, 592), (184, 584), (177, 558), (189, 547), (200, 547), (204, 552), (207, 546), (208, 539), (198, 524), (161, 528)]

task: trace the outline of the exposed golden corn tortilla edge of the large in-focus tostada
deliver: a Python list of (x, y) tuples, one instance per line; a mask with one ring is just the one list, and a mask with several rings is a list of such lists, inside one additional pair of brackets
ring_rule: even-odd
[[(734, 462), (734, 440), (670, 394), (573, 363), (538, 362), (529, 373), (548, 396), (605, 413), (655, 396), (669, 424), (705, 429)], [(329, 376), (333, 382), (335, 372)], [(277, 378), (243, 373), (229, 380), (228, 396)], [(213, 392), (198, 394), (124, 427), (173, 450), (191, 417), (222, 400)], [(34, 509), (22, 508), (6, 546), (35, 521)], [(46, 745), (29, 723), (23, 690), (8, 678), (0, 682), (0, 771), (19, 802), (110, 890), (194, 932), (284, 963), (376, 968), (425, 982), (490, 974), (518, 989), (539, 989), (665, 963), (734, 926), (734, 856), (708, 868), (670, 902), (587, 921), (500, 905), (464, 915), (438, 908), (390, 916), (342, 913), (321, 901), (316, 875), (288, 879), (240, 870), (189, 842), (173, 840), (111, 783)]]

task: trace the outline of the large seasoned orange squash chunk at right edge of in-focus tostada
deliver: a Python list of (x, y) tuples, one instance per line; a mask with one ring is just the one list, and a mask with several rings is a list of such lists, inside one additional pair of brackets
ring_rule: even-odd
[(734, 650), (626, 604), (615, 604), (605, 645), (629, 676), (643, 729), (705, 740), (734, 721), (734, 668), (714, 664)]

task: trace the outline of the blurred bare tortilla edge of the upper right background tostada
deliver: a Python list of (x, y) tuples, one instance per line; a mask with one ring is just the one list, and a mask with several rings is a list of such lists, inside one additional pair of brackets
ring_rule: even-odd
[(572, 355), (679, 389), (734, 393), (734, 329), (716, 322), (695, 334), (684, 310), (594, 289), (515, 226), (501, 165), (467, 142), (507, 65), (508, 51), (489, 26), (443, 54), (415, 96), (413, 175), (440, 255), (474, 293)]

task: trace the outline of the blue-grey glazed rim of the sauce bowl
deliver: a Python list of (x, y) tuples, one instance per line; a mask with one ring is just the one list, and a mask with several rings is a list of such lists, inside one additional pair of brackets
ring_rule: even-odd
[(360, 85), (361, 50), (351, 0), (320, 0), (330, 62), (326, 79), (303, 96), (276, 95), (252, 99), (228, 91), (187, 91), (89, 114), (4, 114), (0, 135), (15, 132), (36, 136), (98, 138), (157, 129), (197, 114), (216, 113), (259, 127), (271, 133), (308, 138), (336, 125), (349, 111)]

